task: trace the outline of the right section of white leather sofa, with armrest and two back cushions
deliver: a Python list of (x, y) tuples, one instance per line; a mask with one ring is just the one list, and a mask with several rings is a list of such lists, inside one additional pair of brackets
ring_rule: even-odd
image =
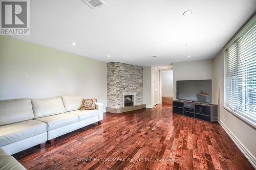
[(61, 96), (31, 99), (34, 119), (47, 124), (47, 139), (51, 140), (103, 119), (102, 104), (96, 110), (79, 110), (82, 96)]

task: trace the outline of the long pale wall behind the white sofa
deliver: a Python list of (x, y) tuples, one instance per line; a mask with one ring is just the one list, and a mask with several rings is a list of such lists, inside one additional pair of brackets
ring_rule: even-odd
[(106, 63), (0, 36), (0, 100), (72, 94), (106, 106)]

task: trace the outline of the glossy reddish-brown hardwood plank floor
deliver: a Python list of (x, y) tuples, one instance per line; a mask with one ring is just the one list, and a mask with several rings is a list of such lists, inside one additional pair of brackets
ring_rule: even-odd
[(101, 125), (14, 157), (27, 169), (254, 169), (220, 125), (173, 114), (171, 105), (106, 113)]

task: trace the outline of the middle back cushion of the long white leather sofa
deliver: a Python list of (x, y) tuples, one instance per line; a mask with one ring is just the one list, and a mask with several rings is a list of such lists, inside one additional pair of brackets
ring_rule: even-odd
[(31, 99), (31, 102), (35, 118), (65, 113), (65, 108), (60, 97)]

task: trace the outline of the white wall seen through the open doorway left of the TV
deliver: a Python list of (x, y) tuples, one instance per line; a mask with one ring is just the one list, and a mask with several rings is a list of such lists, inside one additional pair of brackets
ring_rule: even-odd
[(173, 97), (173, 70), (161, 71), (162, 76), (162, 96)]

